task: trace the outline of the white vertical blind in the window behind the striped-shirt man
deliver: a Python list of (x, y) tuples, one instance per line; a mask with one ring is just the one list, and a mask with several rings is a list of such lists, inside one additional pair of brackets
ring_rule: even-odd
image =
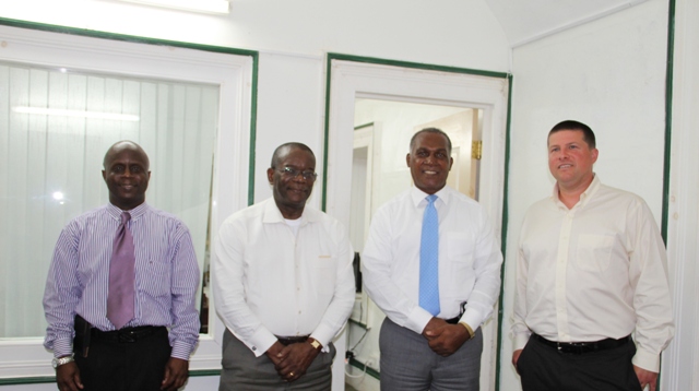
[(203, 272), (218, 94), (216, 85), (0, 62), (0, 337), (45, 334), (42, 298), (54, 246), (68, 221), (108, 201), (102, 162), (119, 140), (149, 154), (146, 201), (185, 221)]

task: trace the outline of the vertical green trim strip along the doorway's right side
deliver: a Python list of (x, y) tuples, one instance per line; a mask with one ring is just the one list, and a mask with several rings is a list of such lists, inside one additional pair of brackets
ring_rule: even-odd
[(502, 226), (500, 227), (500, 251), (502, 251), (502, 266), (500, 268), (500, 297), (498, 298), (498, 337), (496, 341), (495, 349), (495, 390), (500, 390), (500, 359), (502, 349), (502, 296), (505, 294), (505, 254), (507, 253), (507, 228), (509, 223), (509, 188), (510, 188), (510, 134), (511, 134), (511, 121), (512, 121), (512, 79), (511, 74), (508, 75), (508, 91), (507, 91), (507, 125), (505, 133), (505, 183), (502, 194)]

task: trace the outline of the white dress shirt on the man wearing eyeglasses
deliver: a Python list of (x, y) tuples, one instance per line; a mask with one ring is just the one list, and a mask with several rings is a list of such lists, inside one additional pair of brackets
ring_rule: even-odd
[(354, 250), (325, 213), (306, 206), (294, 235), (274, 199), (262, 201), (226, 218), (215, 251), (216, 311), (258, 357), (275, 335), (310, 334), (328, 346), (350, 317)]

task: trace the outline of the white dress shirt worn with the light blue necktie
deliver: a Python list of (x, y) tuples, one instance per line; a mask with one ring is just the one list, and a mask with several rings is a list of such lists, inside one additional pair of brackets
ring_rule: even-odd
[[(445, 187), (435, 201), (439, 215), (439, 318), (459, 316), (476, 330), (500, 293), (502, 256), (485, 210)], [(369, 297), (396, 324), (422, 333), (433, 316), (418, 306), (419, 246), (427, 193), (413, 187), (381, 206), (362, 257)]]

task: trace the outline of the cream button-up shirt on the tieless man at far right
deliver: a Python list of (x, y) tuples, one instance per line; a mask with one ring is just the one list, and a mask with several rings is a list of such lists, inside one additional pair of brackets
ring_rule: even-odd
[(633, 364), (659, 370), (674, 334), (665, 247), (648, 205), (592, 183), (568, 209), (552, 197), (524, 217), (517, 260), (514, 349), (550, 341), (620, 339), (636, 331)]

